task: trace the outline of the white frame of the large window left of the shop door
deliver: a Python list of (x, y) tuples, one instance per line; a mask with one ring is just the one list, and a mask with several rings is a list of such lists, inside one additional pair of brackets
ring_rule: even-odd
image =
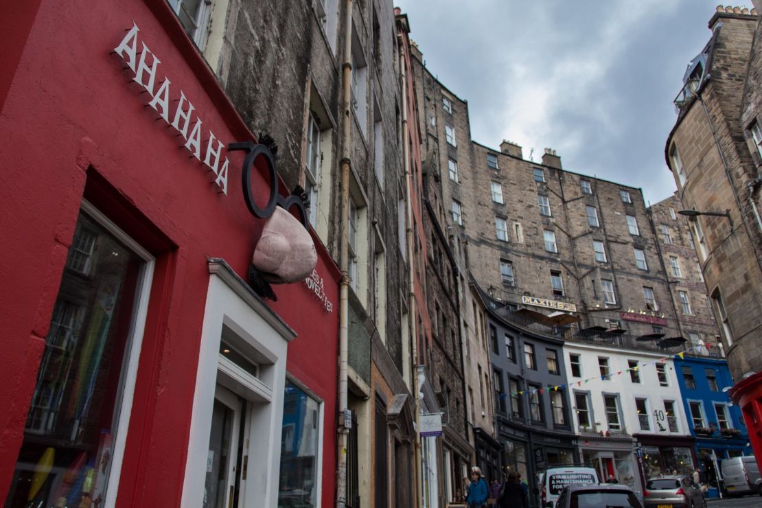
[[(138, 374), (140, 351), (142, 349), (143, 333), (146, 330), (146, 316), (148, 315), (149, 296), (151, 293), (155, 257), (140, 244), (130, 238), (114, 222), (107, 218), (103, 212), (95, 208), (87, 200), (82, 200), (80, 205), (82, 212), (101, 225), (110, 235), (114, 235), (126, 248), (133, 251), (142, 260), (140, 274), (136, 281), (138, 298), (134, 302), (132, 320), (130, 321), (130, 335), (127, 337), (125, 346), (125, 359), (121, 372), (120, 388), (114, 402), (114, 411), (118, 411), (117, 428), (114, 433), (114, 448), (111, 456), (111, 468), (106, 484), (106, 497), (103, 506), (116, 506), (119, 481), (122, 474), (124, 451), (126, 449), (127, 434), (130, 427), (130, 415), (133, 410), (133, 398)], [(117, 409), (118, 407), (118, 409)], [(208, 443), (207, 436), (207, 443)], [(206, 465), (206, 462), (204, 462)]]

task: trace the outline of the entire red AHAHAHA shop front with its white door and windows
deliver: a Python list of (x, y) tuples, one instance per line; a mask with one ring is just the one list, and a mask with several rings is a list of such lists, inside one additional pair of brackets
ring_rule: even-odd
[[(170, 5), (16, 2), (0, 33), (0, 500), (331, 506), (340, 273), (298, 206), (277, 228), (287, 191)], [(316, 250), (277, 301), (265, 237)]]

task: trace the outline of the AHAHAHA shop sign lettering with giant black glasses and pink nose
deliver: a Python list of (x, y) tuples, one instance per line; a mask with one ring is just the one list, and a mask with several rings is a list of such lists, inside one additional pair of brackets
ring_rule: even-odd
[[(206, 149), (202, 154), (203, 120), (185, 92), (179, 88), (178, 93), (177, 85), (176, 88), (171, 88), (171, 81), (167, 75), (158, 82), (158, 87), (156, 86), (158, 66), (162, 62), (149, 50), (144, 40), (139, 40), (139, 31), (137, 24), (133, 23), (133, 27), (127, 30), (123, 40), (114, 48), (114, 53), (126, 63), (125, 69), (129, 68), (134, 73), (133, 81), (148, 92), (151, 100), (147, 106), (152, 107), (158, 113), (158, 118), (162, 118), (175, 129), (178, 136), (182, 136), (185, 142), (184, 149), (213, 172), (213, 183), (227, 195), (229, 161), (225, 156), (224, 143), (211, 129), (206, 129)], [(296, 191), (287, 197), (280, 195), (274, 157), (267, 146), (252, 141), (235, 142), (228, 145), (228, 150), (246, 152), (241, 173), (243, 198), (252, 215), (259, 219), (267, 219), (252, 256), (251, 265), (256, 267), (256, 270), (250, 270), (249, 279), (255, 290), (264, 287), (261, 295), (275, 299), (267, 283), (293, 283), (304, 280), (317, 264), (317, 253), (309, 234), (305, 203)], [(251, 171), (257, 159), (264, 161), (271, 182), (264, 208), (255, 203), (251, 189)], [(292, 207), (296, 207), (299, 221), (287, 212)]]

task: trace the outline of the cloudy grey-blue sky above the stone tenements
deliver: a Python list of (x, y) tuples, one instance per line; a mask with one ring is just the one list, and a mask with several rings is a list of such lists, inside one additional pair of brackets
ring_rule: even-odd
[(651, 203), (674, 192), (672, 101), (717, 0), (395, 4), (427, 69), (469, 101), (472, 139), (495, 149), (509, 139), (536, 161), (555, 149), (565, 169), (641, 187)]

